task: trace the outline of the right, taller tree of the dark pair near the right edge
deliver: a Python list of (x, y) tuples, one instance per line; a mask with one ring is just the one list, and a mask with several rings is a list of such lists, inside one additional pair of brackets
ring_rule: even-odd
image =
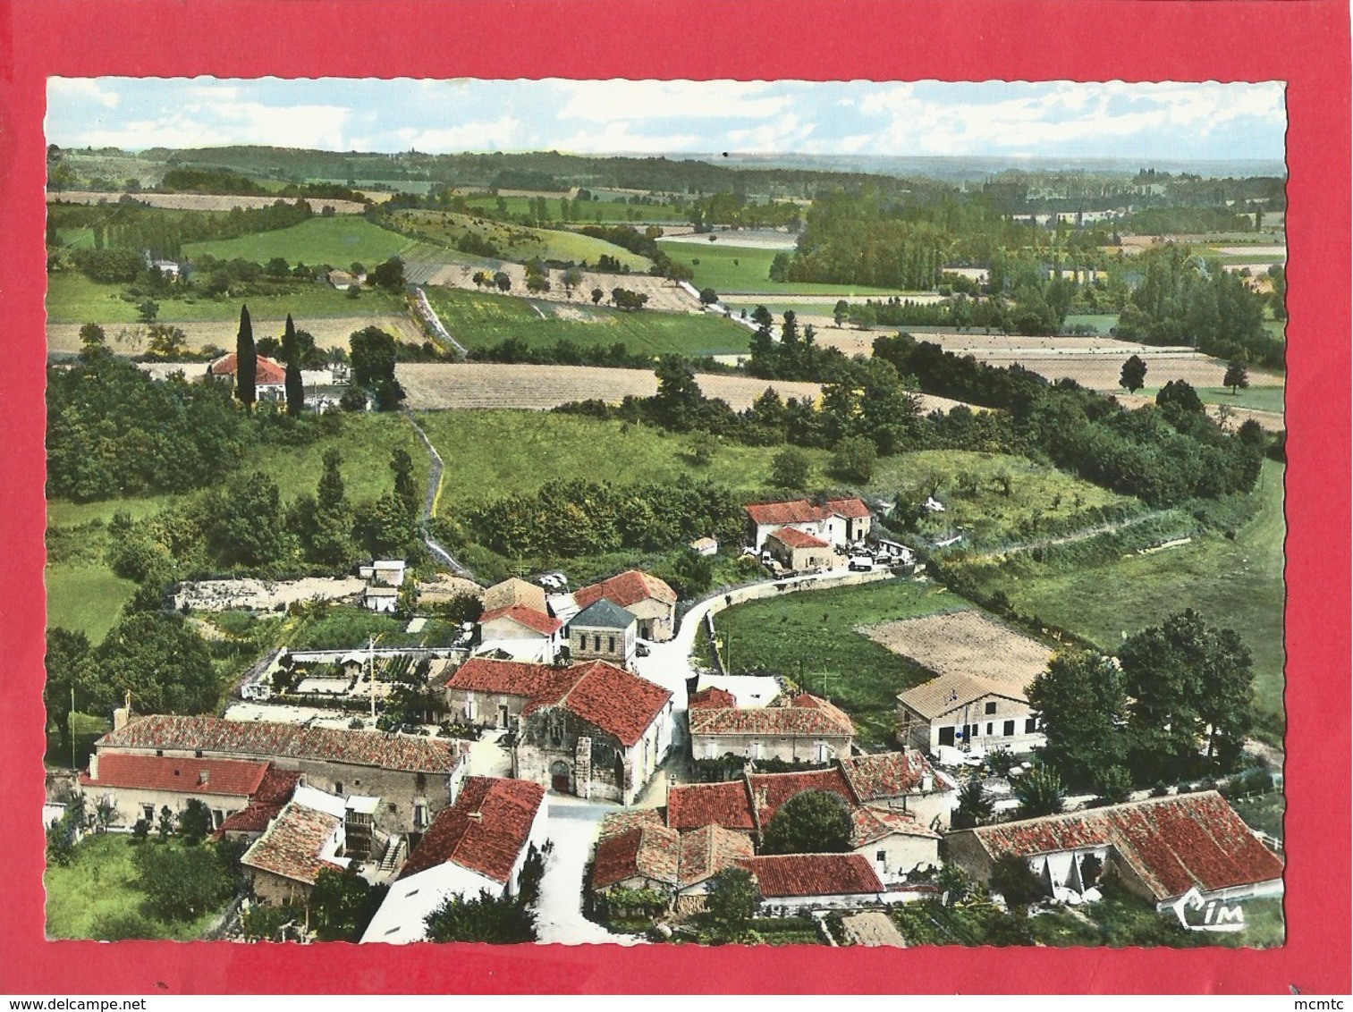
[(1254, 674), (1234, 629), (1187, 609), (1124, 640), (1119, 663), (1139, 777), (1177, 779), (1200, 751), (1222, 767), (1239, 758), (1254, 722)]

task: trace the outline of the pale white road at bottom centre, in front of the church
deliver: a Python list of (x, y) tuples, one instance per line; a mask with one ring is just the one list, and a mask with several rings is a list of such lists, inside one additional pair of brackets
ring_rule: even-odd
[(536, 904), (536, 932), (540, 942), (566, 946), (621, 944), (644, 942), (633, 935), (616, 935), (601, 924), (583, 917), (583, 873), (597, 840), (601, 820), (612, 805), (590, 805), (578, 798), (551, 794), (545, 820), (555, 848), (545, 862), (545, 875), (540, 881), (540, 900)]

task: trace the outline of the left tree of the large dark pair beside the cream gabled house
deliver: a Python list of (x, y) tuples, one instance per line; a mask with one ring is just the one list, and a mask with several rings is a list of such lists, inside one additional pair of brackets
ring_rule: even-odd
[(1127, 699), (1111, 659), (1092, 652), (1054, 655), (1030, 685), (1028, 702), (1047, 737), (1043, 762), (1072, 786), (1096, 785), (1104, 770), (1123, 763), (1127, 741), (1119, 721)]

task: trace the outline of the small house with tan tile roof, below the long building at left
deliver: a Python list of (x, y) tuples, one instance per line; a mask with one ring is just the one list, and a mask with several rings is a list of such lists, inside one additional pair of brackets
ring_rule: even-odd
[(258, 902), (304, 904), (321, 871), (348, 867), (345, 843), (342, 798), (299, 787), (239, 865)]

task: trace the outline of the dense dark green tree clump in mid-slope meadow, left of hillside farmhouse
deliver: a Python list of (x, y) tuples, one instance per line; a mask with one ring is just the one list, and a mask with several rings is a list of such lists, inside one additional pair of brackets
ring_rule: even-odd
[(567, 559), (622, 549), (660, 552), (706, 536), (736, 540), (743, 501), (686, 475), (674, 483), (628, 486), (575, 479), (472, 505), (463, 517), (475, 540), (499, 555)]

